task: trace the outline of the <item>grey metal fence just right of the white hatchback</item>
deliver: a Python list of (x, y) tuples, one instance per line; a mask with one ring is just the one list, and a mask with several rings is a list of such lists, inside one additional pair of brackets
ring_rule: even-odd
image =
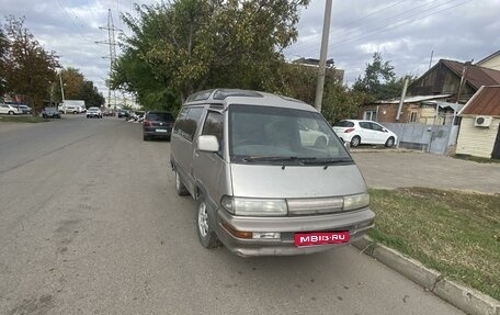
[(456, 144), (458, 126), (427, 125), (419, 123), (383, 123), (398, 136), (398, 148), (447, 155)]

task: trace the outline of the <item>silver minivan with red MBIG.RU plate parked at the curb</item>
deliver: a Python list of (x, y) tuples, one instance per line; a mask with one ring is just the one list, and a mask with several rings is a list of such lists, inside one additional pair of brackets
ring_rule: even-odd
[(346, 245), (374, 226), (367, 187), (312, 106), (265, 92), (190, 95), (171, 136), (180, 195), (196, 201), (201, 244), (248, 256)]

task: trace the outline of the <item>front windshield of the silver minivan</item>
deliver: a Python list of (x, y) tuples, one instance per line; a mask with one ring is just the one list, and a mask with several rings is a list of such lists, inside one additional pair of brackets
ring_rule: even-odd
[(351, 156), (332, 128), (316, 112), (231, 104), (228, 127), (232, 162), (352, 162)]

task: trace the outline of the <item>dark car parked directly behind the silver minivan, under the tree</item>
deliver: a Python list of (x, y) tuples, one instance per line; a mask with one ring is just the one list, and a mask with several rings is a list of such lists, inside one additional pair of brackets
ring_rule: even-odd
[(166, 138), (170, 140), (173, 121), (174, 119), (169, 112), (146, 112), (143, 121), (144, 140), (147, 142), (151, 138)]

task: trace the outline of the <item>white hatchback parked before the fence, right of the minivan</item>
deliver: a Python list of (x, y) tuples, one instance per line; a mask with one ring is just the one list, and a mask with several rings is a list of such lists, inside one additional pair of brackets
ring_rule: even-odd
[(343, 120), (333, 125), (333, 131), (352, 147), (366, 144), (385, 145), (390, 148), (398, 139), (395, 133), (373, 121)]

